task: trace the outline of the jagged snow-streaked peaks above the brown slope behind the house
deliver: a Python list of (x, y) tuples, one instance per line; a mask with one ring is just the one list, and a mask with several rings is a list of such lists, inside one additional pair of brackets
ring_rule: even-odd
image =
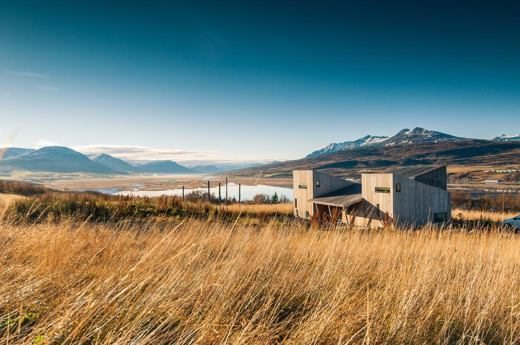
[(331, 143), (323, 149), (314, 151), (307, 155), (307, 157), (314, 157), (322, 154), (354, 150), (359, 148), (368, 147), (382, 147), (382, 146), (401, 146), (401, 145), (413, 145), (428, 142), (455, 142), (455, 141), (467, 141), (473, 140), (468, 138), (461, 138), (438, 132), (435, 130), (428, 130), (421, 127), (415, 127), (414, 129), (402, 129), (393, 137), (376, 137), (366, 136), (354, 141), (345, 141), (340, 143)]

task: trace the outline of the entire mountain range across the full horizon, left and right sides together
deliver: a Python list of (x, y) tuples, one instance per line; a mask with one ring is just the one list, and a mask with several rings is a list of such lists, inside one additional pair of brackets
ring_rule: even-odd
[[(411, 147), (413, 146), (413, 149)], [(349, 169), (408, 164), (455, 163), (472, 164), (511, 162), (520, 149), (520, 134), (501, 135), (491, 140), (456, 137), (421, 127), (402, 129), (392, 137), (371, 136), (331, 143), (296, 161), (262, 163), (220, 163), (183, 166), (173, 161), (151, 161), (131, 164), (109, 154), (84, 155), (70, 148), (48, 146), (38, 150), (0, 148), (0, 169), (49, 172), (93, 172), (98, 174), (216, 174), (233, 171), (235, 176), (248, 176), (264, 171), (264, 176), (285, 176), (291, 169)], [(509, 152), (505, 155), (505, 152)], [(518, 151), (520, 156), (520, 151)], [(450, 161), (451, 160), (451, 161)], [(518, 158), (517, 161), (520, 161)], [(262, 168), (258, 168), (262, 166)], [(280, 175), (281, 174), (281, 175)]]

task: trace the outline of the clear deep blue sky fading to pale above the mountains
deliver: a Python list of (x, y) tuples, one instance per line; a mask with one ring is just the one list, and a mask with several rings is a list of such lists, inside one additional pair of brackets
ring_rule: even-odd
[(271, 160), (416, 126), (518, 134), (519, 15), (514, 2), (2, 2), (0, 140)]

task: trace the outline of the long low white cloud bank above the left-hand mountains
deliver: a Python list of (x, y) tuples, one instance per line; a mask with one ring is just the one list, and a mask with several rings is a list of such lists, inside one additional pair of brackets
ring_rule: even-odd
[(240, 156), (218, 151), (151, 149), (131, 145), (85, 145), (72, 147), (83, 154), (106, 153), (128, 162), (170, 160), (191, 164), (263, 162), (274, 158)]

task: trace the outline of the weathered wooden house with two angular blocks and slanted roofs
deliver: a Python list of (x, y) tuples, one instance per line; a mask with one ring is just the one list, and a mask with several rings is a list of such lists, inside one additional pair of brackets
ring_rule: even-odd
[(406, 166), (386, 173), (361, 174), (361, 183), (316, 170), (294, 170), (294, 215), (337, 218), (362, 227), (446, 223), (451, 193), (446, 166)]

